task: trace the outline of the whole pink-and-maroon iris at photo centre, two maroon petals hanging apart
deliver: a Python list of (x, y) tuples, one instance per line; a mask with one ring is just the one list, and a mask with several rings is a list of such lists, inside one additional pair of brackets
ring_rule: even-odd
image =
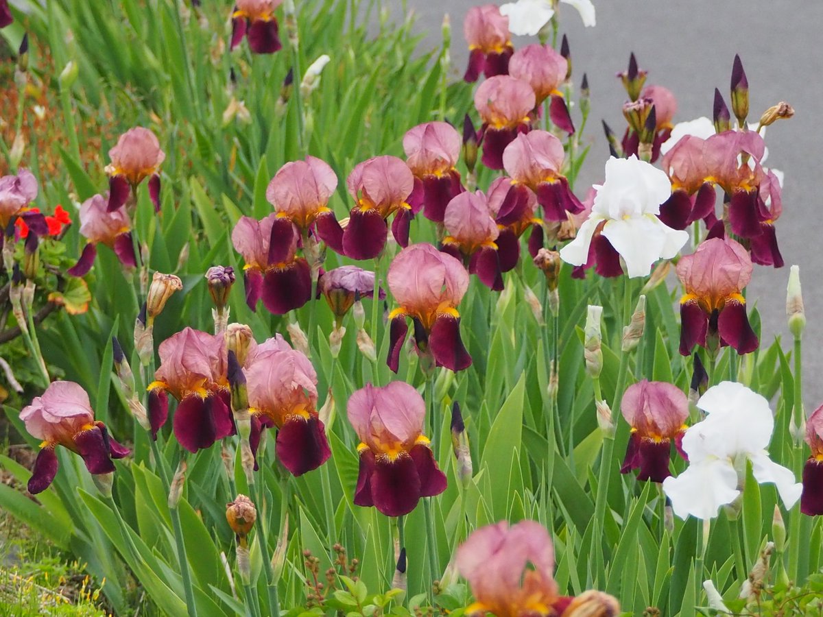
[(430, 351), (435, 362), (447, 369), (467, 369), (472, 356), (460, 340), (457, 310), (468, 289), (463, 264), (431, 244), (412, 244), (394, 257), (387, 281), (400, 305), (388, 315), (388, 368), (398, 372), (400, 350), (408, 332), (406, 319), (412, 318), (418, 350)]

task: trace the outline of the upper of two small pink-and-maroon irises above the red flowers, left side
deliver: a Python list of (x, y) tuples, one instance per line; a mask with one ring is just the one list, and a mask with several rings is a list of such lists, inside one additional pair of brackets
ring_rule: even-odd
[(109, 175), (109, 212), (124, 206), (129, 195), (137, 195), (137, 186), (149, 179), (149, 197), (160, 211), (160, 164), (165, 160), (165, 152), (160, 150), (160, 141), (147, 128), (135, 127), (124, 132), (117, 145), (109, 150), (111, 162), (105, 167)]

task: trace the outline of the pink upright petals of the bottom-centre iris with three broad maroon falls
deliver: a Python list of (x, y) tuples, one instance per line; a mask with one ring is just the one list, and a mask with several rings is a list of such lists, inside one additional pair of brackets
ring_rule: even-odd
[(357, 437), (373, 452), (410, 450), (423, 430), (425, 401), (404, 382), (366, 384), (351, 395), (346, 413)]

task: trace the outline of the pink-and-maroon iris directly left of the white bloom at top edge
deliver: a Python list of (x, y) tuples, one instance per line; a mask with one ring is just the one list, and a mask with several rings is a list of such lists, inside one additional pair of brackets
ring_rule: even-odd
[(468, 67), (463, 79), (477, 81), (485, 75), (505, 75), (509, 72), (509, 58), (514, 53), (509, 20), (500, 14), (495, 4), (472, 7), (463, 21), (463, 35), (468, 43)]

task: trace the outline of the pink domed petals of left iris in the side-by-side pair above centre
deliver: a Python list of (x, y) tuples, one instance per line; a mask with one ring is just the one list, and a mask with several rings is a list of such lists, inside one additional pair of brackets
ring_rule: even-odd
[(280, 168), (266, 189), (266, 199), (301, 230), (307, 230), (336, 188), (334, 170), (323, 160), (307, 156)]

